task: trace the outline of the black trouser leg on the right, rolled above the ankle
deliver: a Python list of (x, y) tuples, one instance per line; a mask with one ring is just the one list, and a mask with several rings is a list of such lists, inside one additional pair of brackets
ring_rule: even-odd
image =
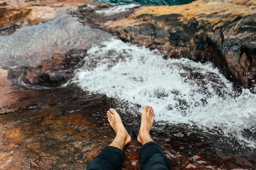
[(141, 170), (171, 170), (171, 165), (156, 142), (147, 142), (140, 149)]

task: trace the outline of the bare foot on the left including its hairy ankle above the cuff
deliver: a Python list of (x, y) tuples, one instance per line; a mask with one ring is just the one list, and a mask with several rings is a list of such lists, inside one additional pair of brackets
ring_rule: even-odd
[(122, 123), (122, 120), (119, 114), (115, 111), (115, 109), (109, 109), (109, 111), (107, 112), (107, 116), (111, 127), (114, 129), (116, 133), (116, 137), (110, 144), (110, 146), (114, 146), (123, 150), (125, 145), (131, 142), (131, 137), (126, 131)]

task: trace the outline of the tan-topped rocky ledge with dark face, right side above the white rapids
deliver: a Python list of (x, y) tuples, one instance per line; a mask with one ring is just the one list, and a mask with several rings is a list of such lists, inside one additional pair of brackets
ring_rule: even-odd
[(99, 8), (106, 11), (112, 6), (80, 7), (74, 14), (123, 41), (159, 49), (165, 57), (213, 62), (228, 79), (255, 93), (256, 10), (252, 8), (234, 30), (254, 2), (197, 0), (180, 6), (135, 7), (126, 11), (129, 16), (112, 13), (101, 20)]

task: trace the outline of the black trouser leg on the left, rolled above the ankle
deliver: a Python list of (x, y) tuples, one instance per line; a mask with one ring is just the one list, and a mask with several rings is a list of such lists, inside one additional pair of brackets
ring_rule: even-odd
[(123, 161), (121, 149), (107, 146), (88, 163), (87, 170), (119, 170)]

